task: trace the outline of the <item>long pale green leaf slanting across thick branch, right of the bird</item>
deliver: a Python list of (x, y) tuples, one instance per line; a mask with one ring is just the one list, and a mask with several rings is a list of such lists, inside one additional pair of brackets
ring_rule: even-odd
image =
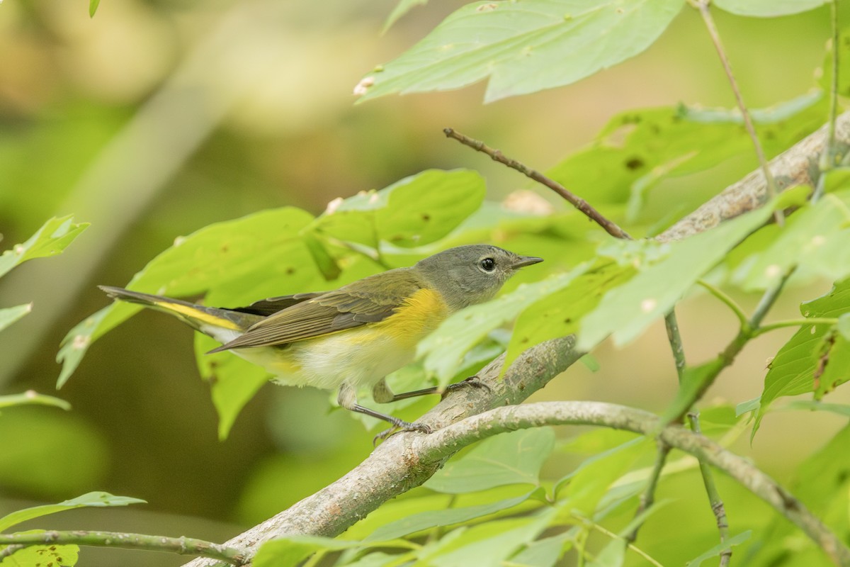
[(670, 254), (605, 294), (597, 309), (581, 320), (577, 349), (589, 350), (609, 334), (623, 346), (672, 309), (694, 283), (729, 250), (770, 218), (802, 196), (788, 192), (751, 213), (720, 224), (685, 241), (672, 242)]

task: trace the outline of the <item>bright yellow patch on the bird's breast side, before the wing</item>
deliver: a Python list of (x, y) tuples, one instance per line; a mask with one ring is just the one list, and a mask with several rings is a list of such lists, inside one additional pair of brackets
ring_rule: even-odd
[(392, 338), (399, 347), (413, 349), (423, 337), (449, 315), (449, 308), (438, 292), (421, 289), (405, 299), (393, 315), (371, 326), (375, 332)]

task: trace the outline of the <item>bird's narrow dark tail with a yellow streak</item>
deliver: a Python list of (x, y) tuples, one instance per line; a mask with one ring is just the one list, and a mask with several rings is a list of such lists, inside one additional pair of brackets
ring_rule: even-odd
[(120, 299), (129, 303), (139, 303), (140, 305), (144, 305), (144, 307), (150, 307), (151, 309), (173, 315), (193, 329), (207, 334), (222, 343), (233, 340), (245, 332), (249, 326), (263, 319), (260, 315), (242, 313), (231, 309), (206, 307), (180, 299), (151, 295), (150, 293), (131, 292), (122, 287), (98, 287), (113, 299)]

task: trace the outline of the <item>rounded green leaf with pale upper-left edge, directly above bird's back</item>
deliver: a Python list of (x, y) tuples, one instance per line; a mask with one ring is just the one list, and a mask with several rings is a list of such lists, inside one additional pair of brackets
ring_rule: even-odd
[(473, 171), (430, 169), (389, 185), (334, 201), (310, 227), (317, 235), (418, 247), (456, 229), (484, 201), (484, 179)]

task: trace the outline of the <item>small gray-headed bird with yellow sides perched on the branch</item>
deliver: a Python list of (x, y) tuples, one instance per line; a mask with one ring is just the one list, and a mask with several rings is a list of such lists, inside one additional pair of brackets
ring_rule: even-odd
[(450, 248), (411, 268), (390, 269), (333, 292), (268, 298), (247, 307), (220, 309), (100, 286), (111, 298), (165, 311), (269, 371), (286, 386), (339, 388), (337, 402), (392, 423), (405, 431), (430, 433), (357, 403), (356, 389), (372, 387), (378, 403), (436, 394), (425, 388), (394, 394), (384, 381), (413, 360), (416, 343), (449, 315), (496, 295), (516, 271), (542, 258), (519, 256), (499, 247)]

